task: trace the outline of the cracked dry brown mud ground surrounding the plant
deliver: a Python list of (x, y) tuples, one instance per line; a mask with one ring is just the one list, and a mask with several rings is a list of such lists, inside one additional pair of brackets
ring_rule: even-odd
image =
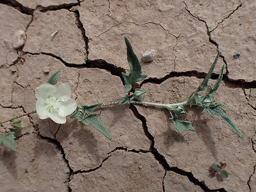
[[(255, 9), (254, 0), (0, 1), (1, 120), (34, 110), (35, 88), (56, 70), (78, 104), (122, 100), (121, 72), (130, 70), (126, 35), (148, 74), (134, 88), (146, 90), (148, 102), (186, 100), (219, 48), (210, 84), (225, 64), (215, 98), (244, 135), (196, 107), (182, 116), (196, 131), (182, 135), (161, 108), (100, 108), (111, 141), (74, 119), (59, 125), (31, 114), (21, 118), (17, 150), (0, 147), (1, 191), (256, 191)], [(27, 39), (15, 50), (18, 30)], [(143, 62), (151, 49), (154, 61)], [(221, 161), (226, 179), (212, 173)]]

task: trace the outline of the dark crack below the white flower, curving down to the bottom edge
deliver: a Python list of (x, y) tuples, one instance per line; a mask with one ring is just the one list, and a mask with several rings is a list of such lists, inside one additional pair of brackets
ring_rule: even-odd
[[(35, 126), (34, 126), (34, 128), (36, 129)], [(66, 165), (67, 165), (67, 167), (68, 167), (68, 169), (69, 169), (68, 180), (65, 181), (65, 182), (69, 183), (70, 180), (71, 180), (70, 178), (74, 175), (74, 171), (73, 171), (72, 168), (69, 166), (69, 162), (68, 162), (68, 160), (66, 159), (66, 154), (65, 154), (64, 149), (62, 148), (60, 142), (59, 142), (58, 140), (56, 140), (56, 139), (44, 137), (44, 136), (40, 135), (39, 133), (37, 134), (37, 136), (38, 136), (40, 139), (44, 139), (44, 140), (47, 140), (48, 142), (50, 142), (50, 143), (52, 143), (52, 144), (55, 144), (56, 148), (57, 148), (58, 150), (60, 150), (60, 152), (61, 152), (61, 154), (62, 154), (62, 157), (63, 157), (63, 160), (64, 160), (64, 162), (66, 163)], [(68, 185), (68, 192), (71, 192), (71, 191), (72, 191), (72, 190), (71, 190), (70, 186)]]

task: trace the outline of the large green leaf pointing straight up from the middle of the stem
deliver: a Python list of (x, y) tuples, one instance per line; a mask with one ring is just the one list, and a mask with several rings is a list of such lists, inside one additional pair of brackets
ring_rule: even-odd
[(132, 45), (130, 44), (128, 38), (124, 36), (124, 40), (127, 47), (127, 60), (130, 65), (130, 74), (126, 75), (122, 72), (122, 76), (124, 78), (124, 92), (127, 93), (132, 89), (132, 83), (138, 82), (146, 78), (148, 75), (142, 74), (140, 61), (138, 57), (134, 53), (132, 49)]

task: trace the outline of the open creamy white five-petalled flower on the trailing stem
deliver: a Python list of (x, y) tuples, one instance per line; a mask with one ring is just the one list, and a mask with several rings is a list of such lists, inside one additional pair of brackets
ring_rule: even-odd
[(58, 124), (66, 123), (66, 116), (76, 110), (68, 84), (43, 83), (36, 88), (36, 112), (40, 119), (51, 118)]

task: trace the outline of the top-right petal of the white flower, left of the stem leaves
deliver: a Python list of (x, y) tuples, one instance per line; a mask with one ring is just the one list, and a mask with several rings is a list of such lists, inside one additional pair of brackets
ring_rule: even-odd
[(57, 83), (57, 92), (54, 94), (56, 98), (60, 99), (60, 102), (68, 101), (71, 98), (71, 89), (66, 83)]

